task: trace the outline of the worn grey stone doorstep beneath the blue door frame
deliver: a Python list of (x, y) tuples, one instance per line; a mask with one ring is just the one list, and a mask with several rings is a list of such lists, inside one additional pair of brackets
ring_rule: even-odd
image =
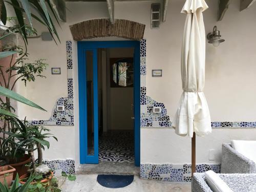
[(100, 161), (99, 164), (80, 164), (77, 174), (140, 175), (140, 167), (134, 163)]

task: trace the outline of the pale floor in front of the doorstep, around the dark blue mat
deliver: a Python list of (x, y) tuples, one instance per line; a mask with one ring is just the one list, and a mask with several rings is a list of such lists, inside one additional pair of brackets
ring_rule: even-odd
[(66, 181), (62, 185), (63, 192), (188, 192), (191, 184), (174, 184), (172, 182), (142, 180), (134, 176), (134, 181), (123, 188), (105, 188), (97, 182), (96, 174), (77, 175), (75, 181)]

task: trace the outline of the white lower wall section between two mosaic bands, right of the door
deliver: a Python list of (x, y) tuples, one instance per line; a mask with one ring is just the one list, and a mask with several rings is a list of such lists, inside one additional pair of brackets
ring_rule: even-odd
[[(191, 163), (191, 139), (175, 134), (174, 129), (141, 129), (142, 163)], [(255, 140), (256, 129), (213, 129), (210, 135), (196, 138), (197, 163), (221, 163), (221, 144), (231, 139)], [(215, 150), (215, 160), (209, 160), (209, 150)]]

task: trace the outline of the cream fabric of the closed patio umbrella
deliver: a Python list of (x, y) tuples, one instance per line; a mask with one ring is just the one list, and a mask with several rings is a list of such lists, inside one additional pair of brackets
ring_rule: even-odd
[(186, 0), (181, 13), (186, 14), (182, 40), (182, 89), (174, 126), (181, 136), (204, 136), (211, 132), (210, 113), (203, 93), (205, 75), (204, 0)]

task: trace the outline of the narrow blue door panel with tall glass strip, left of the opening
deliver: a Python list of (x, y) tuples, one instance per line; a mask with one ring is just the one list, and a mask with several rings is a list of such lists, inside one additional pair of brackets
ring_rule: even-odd
[(95, 163), (98, 158), (98, 70), (97, 49), (78, 50), (80, 162)]

